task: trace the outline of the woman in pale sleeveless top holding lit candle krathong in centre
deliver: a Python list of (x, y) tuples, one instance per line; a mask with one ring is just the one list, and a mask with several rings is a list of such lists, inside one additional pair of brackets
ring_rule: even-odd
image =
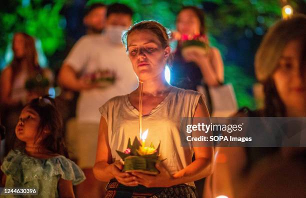
[[(164, 69), (170, 47), (168, 33), (161, 24), (141, 21), (131, 26), (122, 38), (139, 78), (139, 87), (130, 94), (111, 98), (100, 107), (94, 175), (99, 180), (110, 180), (106, 197), (195, 197), (193, 181), (211, 173), (213, 148), (182, 147), (180, 118), (209, 116), (204, 98), (196, 91), (166, 82)], [(146, 138), (139, 134), (139, 125), (140, 133), (148, 129), (147, 133), (143, 132)], [(128, 147), (131, 150), (125, 149), (124, 154), (133, 152), (139, 142), (136, 140), (130, 146), (128, 139), (138, 134), (142, 140), (146, 139), (147, 145), (160, 143), (157, 150), (165, 160), (157, 160), (158, 174), (122, 171), (121, 155), (116, 151)]]

